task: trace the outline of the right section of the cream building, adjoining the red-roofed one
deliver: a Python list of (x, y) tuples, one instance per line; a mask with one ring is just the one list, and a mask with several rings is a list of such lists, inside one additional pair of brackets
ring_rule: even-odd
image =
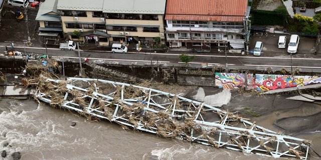
[(126, 41), (132, 37), (147, 44), (159, 37), (165, 42), (163, 16), (166, 0), (104, 1), (102, 12), (111, 41)]

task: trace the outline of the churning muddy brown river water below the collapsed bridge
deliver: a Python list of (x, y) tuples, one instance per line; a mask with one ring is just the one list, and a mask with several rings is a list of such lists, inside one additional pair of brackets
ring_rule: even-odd
[[(76, 122), (75, 126), (71, 126)], [(320, 142), (319, 131), (298, 135)], [(4, 144), (9, 143), (8, 146)], [(0, 144), (7, 157), (21, 159), (276, 159), (215, 148), (155, 134), (123, 130), (109, 121), (88, 121), (76, 112), (38, 104), (33, 99), (0, 101)], [(316, 151), (320, 147), (317, 145)], [(319, 151), (320, 152), (320, 151)], [(295, 158), (290, 158), (295, 159)], [(318, 159), (311, 157), (311, 159)]]

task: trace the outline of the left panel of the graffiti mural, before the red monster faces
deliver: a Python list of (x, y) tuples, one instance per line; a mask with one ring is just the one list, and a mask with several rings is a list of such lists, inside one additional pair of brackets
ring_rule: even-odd
[(235, 89), (245, 87), (245, 75), (242, 73), (215, 73), (215, 85), (220, 88)]

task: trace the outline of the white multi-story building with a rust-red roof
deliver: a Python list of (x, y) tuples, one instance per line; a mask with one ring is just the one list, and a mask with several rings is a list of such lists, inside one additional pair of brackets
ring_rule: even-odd
[(165, 19), (171, 47), (244, 48), (249, 33), (248, 0), (167, 0)]

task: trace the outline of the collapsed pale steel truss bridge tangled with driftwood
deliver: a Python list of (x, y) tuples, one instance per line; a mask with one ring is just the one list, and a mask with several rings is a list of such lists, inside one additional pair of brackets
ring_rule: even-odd
[(35, 97), (132, 128), (273, 157), (307, 159), (310, 141), (281, 135), (205, 103), (152, 88), (69, 77), (39, 81)]

